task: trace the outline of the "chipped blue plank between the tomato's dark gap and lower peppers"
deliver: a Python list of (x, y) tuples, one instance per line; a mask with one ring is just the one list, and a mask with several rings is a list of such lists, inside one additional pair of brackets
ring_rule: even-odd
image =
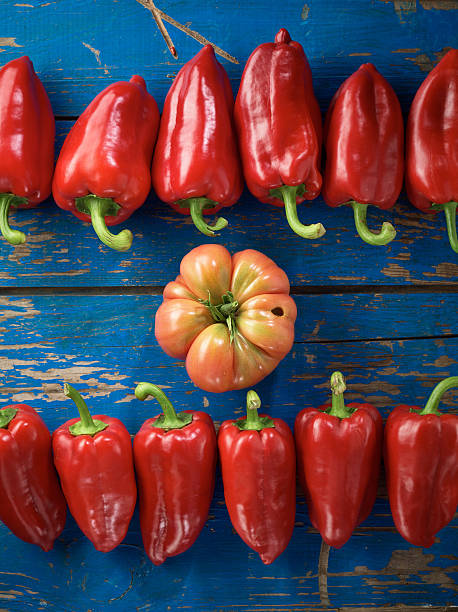
[[(456, 306), (453, 295), (418, 298), (295, 296), (295, 345), (260, 384), (266, 409), (281, 407), (293, 425), (301, 407), (326, 400), (335, 369), (348, 375), (349, 401), (369, 394), (383, 416), (396, 403), (424, 403), (432, 385), (457, 368), (458, 321), (450, 316)], [(160, 349), (154, 315), (161, 301), (148, 295), (1, 298), (0, 405), (44, 402), (41, 409), (48, 415), (46, 406), (51, 404), (49, 426), (56, 428), (73, 410), (61, 392), (67, 377), (67, 382), (94, 393), (94, 409), (103, 412), (108, 403), (135, 432), (145, 414), (155, 409), (137, 401), (135, 410), (129, 409), (135, 384), (146, 377), (170, 388), (180, 410), (189, 401), (207, 405), (216, 410), (212, 416), (218, 421), (240, 411), (244, 392), (200, 391), (188, 379), (183, 362)], [(417, 336), (429, 337), (427, 344)], [(286, 389), (287, 399), (282, 399)], [(456, 406), (451, 396), (445, 402)]]

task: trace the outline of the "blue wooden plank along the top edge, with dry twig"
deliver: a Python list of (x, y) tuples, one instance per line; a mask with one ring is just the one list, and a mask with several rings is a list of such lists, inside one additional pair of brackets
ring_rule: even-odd
[[(450, 7), (450, 3), (442, 3)], [(301, 42), (314, 72), (315, 88), (326, 108), (338, 85), (363, 62), (373, 62), (392, 82), (404, 109), (446, 47), (457, 46), (453, 10), (440, 3), (384, 0), (163, 1), (160, 8), (235, 55), (223, 60), (234, 90), (251, 51), (286, 27)], [(6, 41), (2, 61), (22, 54), (34, 61), (56, 114), (79, 114), (96, 91), (132, 74), (145, 76), (162, 105), (174, 73), (200, 45), (168, 26), (179, 52), (175, 61), (149, 12), (140, 4), (99, 0), (28, 0), (2, 3)]]

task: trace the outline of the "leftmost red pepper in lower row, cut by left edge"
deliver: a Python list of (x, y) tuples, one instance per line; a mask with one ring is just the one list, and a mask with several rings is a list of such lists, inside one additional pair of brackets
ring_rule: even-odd
[(0, 520), (25, 542), (51, 550), (67, 504), (51, 452), (51, 434), (30, 406), (0, 409)]

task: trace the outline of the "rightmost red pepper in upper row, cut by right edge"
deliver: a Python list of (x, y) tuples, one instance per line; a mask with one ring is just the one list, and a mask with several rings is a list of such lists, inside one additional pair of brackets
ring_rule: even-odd
[(450, 245), (458, 253), (458, 49), (428, 74), (410, 107), (406, 135), (406, 189), (422, 212), (443, 210)]

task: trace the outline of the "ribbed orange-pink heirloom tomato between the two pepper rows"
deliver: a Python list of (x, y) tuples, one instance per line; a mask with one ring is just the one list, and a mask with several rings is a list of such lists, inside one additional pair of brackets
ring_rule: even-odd
[(164, 289), (156, 338), (186, 359), (195, 385), (219, 393), (251, 387), (290, 351), (297, 310), (285, 272), (259, 251), (220, 245), (185, 255)]

